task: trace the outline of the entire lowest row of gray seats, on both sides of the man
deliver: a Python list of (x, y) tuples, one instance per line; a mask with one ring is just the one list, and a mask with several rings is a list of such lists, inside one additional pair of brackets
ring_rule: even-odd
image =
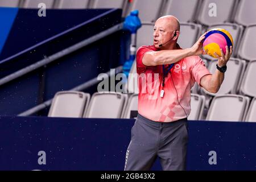
[[(204, 96), (191, 94), (189, 120), (202, 119)], [(222, 94), (213, 98), (208, 110), (208, 121), (256, 122), (256, 98), (236, 94)], [(117, 92), (90, 94), (76, 91), (57, 92), (49, 109), (48, 117), (76, 118), (133, 118), (138, 111), (138, 94)]]

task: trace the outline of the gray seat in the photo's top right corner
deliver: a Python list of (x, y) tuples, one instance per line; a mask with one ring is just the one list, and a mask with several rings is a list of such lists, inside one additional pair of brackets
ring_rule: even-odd
[(255, 0), (240, 0), (238, 4), (238, 10), (234, 22), (242, 24), (243, 26), (249, 26), (256, 24), (256, 1)]

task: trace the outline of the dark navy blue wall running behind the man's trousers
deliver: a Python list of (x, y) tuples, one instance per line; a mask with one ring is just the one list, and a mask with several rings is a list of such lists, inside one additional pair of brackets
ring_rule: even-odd
[[(123, 170), (134, 119), (0, 117), (1, 170)], [(188, 170), (255, 170), (256, 123), (189, 121)], [(38, 164), (38, 152), (46, 164)], [(209, 151), (217, 164), (210, 165)], [(159, 162), (154, 170), (161, 170)]]

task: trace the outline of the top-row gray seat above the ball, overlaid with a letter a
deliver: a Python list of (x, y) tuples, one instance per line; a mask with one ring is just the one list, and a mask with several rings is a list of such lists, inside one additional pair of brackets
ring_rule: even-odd
[[(205, 0), (201, 3), (197, 20), (207, 26), (230, 22), (236, 3), (237, 0)], [(216, 16), (213, 14), (214, 8), (216, 8)]]

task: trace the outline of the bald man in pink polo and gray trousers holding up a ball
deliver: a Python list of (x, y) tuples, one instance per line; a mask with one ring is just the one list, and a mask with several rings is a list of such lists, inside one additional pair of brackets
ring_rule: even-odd
[(177, 44), (179, 20), (162, 16), (155, 22), (154, 45), (137, 51), (138, 117), (131, 129), (125, 170), (149, 170), (157, 156), (163, 170), (184, 170), (187, 152), (187, 117), (191, 111), (191, 88), (197, 82), (216, 93), (224, 80), (232, 47), (221, 50), (212, 75), (199, 55), (202, 40), (187, 49)]

